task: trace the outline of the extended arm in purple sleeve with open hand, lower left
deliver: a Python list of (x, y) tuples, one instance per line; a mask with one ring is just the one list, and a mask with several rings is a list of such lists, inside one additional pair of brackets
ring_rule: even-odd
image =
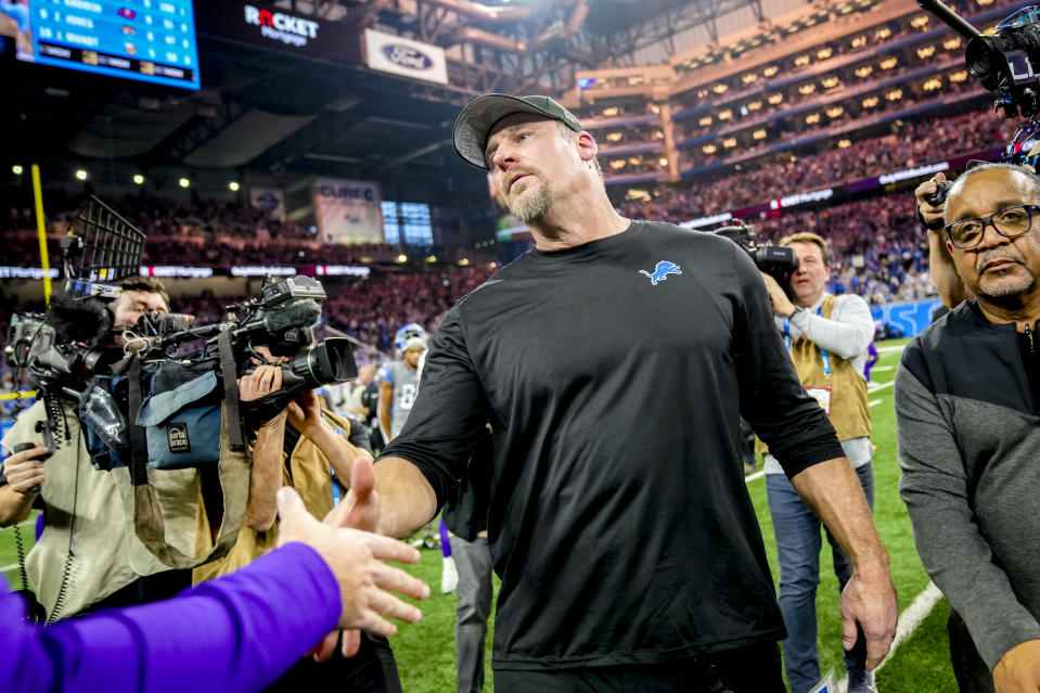
[(277, 551), (167, 602), (39, 628), (0, 583), (0, 633), (18, 663), (0, 668), (0, 690), (259, 691), (337, 626), (389, 636), (385, 617), (420, 619), (390, 592), (426, 599), (429, 588), (384, 563), (415, 563), (418, 551), (319, 523), (291, 489), (279, 510)]

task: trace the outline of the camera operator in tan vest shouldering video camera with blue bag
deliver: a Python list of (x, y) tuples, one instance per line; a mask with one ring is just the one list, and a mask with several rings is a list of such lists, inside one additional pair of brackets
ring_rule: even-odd
[[(290, 360), (272, 355), (267, 346), (253, 350), (256, 370), (239, 381), (242, 402), (277, 394), (282, 388), (280, 364)], [(314, 390), (304, 390), (281, 412), (255, 425), (249, 496), (237, 541), (224, 559), (195, 568), (196, 583), (231, 573), (274, 549), (280, 487), (292, 486), (310, 514), (324, 517), (346, 496), (354, 460), (372, 459), (367, 428), (323, 408)], [(349, 652), (354, 646), (351, 642), (343, 649)], [(337, 649), (328, 662), (301, 659), (269, 690), (346, 684), (351, 690), (399, 692), (397, 664), (387, 640), (361, 633), (357, 647), (350, 657)]]

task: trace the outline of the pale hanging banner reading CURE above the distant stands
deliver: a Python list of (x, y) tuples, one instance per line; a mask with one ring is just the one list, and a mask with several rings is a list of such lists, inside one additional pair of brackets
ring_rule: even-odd
[(383, 243), (378, 183), (363, 180), (314, 180), (314, 217), (322, 241)]

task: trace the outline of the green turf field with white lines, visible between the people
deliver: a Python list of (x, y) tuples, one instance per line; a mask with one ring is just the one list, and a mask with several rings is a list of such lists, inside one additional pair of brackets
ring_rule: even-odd
[[(896, 462), (896, 423), (893, 410), (891, 382), (899, 360), (899, 347), (906, 339), (878, 344), (881, 360), (872, 371), (873, 385), (869, 401), (873, 403), (875, 518), (882, 539), (891, 557), (893, 576), (899, 594), (900, 611), (906, 609), (928, 585), (928, 578), (913, 548), (910, 521), (899, 500), (899, 467)], [(772, 523), (766, 504), (765, 479), (748, 482), (748, 492), (758, 509), (759, 521), (774, 578), (776, 551), (772, 537)], [(26, 529), (29, 529), (26, 527)], [(28, 531), (24, 531), (28, 535)], [(824, 546), (826, 543), (824, 542)], [(0, 529), (0, 567), (15, 563), (12, 532)], [(840, 618), (838, 615), (837, 580), (831, 573), (829, 552), (821, 557), (823, 566), (821, 585), (817, 596), (820, 619), (820, 658), (825, 671), (834, 667), (840, 670)], [(412, 572), (433, 589), (431, 599), (421, 604), (422, 623), (401, 626), (391, 639), (407, 693), (446, 693), (454, 690), (454, 607), (453, 594), (441, 594), (440, 551), (424, 550), (422, 561)], [(17, 572), (5, 573), (9, 581), (16, 579)], [(877, 675), (878, 689), (883, 693), (940, 693), (955, 691), (947, 652), (946, 614), (948, 606), (940, 600), (924, 618), (917, 629), (898, 646), (890, 659)], [(492, 618), (493, 621), (493, 618)], [(490, 639), (489, 639), (490, 641)], [(490, 646), (488, 647), (490, 660)], [(485, 690), (491, 690), (490, 664)]]

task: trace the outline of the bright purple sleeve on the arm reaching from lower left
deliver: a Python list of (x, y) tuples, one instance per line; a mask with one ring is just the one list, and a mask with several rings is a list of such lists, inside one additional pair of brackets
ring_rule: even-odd
[(339, 588), (311, 548), (290, 543), (155, 604), (40, 628), (0, 585), (0, 691), (258, 691), (339, 619)]

